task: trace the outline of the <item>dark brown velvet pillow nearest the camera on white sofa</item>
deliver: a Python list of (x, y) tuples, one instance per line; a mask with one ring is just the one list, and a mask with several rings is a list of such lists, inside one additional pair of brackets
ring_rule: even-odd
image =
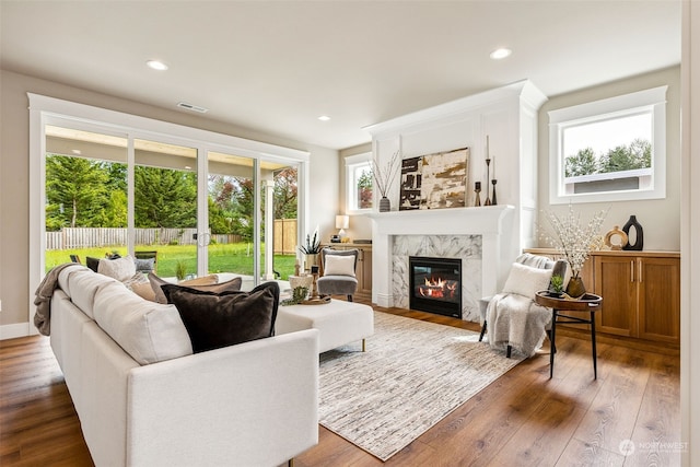
[(177, 307), (195, 353), (270, 337), (279, 306), (277, 282), (250, 292), (209, 292), (186, 287), (162, 287), (167, 302)]

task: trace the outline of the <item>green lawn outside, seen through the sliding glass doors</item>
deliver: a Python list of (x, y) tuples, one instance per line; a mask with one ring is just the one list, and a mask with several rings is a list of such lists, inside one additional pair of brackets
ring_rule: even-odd
[[(158, 270), (161, 277), (174, 277), (175, 266), (182, 260), (186, 265), (187, 273), (195, 273), (197, 269), (197, 248), (194, 245), (140, 245), (137, 252), (158, 252)], [(85, 264), (85, 258), (104, 258), (105, 254), (117, 252), (125, 256), (126, 247), (74, 248), (55, 249), (46, 252), (46, 270), (70, 262), (70, 255), (78, 255)], [(273, 269), (288, 279), (294, 273), (294, 255), (275, 255)], [(265, 266), (265, 255), (260, 257), (260, 267)], [(253, 276), (253, 246), (247, 243), (209, 245), (209, 272), (236, 272)]]

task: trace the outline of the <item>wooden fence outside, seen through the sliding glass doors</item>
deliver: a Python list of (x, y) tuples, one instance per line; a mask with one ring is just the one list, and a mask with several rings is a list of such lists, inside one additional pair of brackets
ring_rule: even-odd
[[(136, 245), (197, 245), (197, 229), (135, 229)], [(242, 242), (241, 235), (214, 234), (211, 243)], [(66, 227), (60, 232), (46, 232), (46, 249), (74, 249), (122, 246), (127, 244), (126, 229)], [(275, 221), (275, 254), (293, 255), (296, 252), (296, 219)]]

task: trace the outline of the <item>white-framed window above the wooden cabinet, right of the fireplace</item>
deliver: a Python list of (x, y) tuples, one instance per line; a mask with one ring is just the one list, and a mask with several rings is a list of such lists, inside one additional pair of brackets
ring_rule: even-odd
[(665, 198), (666, 89), (550, 112), (550, 203)]

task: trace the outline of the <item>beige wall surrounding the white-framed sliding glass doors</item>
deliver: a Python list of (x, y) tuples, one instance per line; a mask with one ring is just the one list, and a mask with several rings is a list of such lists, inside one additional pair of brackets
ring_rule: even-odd
[(338, 151), (310, 145), (285, 138), (260, 133), (199, 115), (153, 107), (106, 94), (90, 92), (60, 83), (0, 70), (0, 338), (25, 335), (31, 303), (36, 285), (30, 283), (28, 258), (28, 101), (26, 93), (43, 94), (66, 101), (163, 121), (186, 125), (268, 142), (311, 153), (311, 194), (308, 224), (319, 225), (323, 235), (335, 230), (338, 205), (336, 185)]

